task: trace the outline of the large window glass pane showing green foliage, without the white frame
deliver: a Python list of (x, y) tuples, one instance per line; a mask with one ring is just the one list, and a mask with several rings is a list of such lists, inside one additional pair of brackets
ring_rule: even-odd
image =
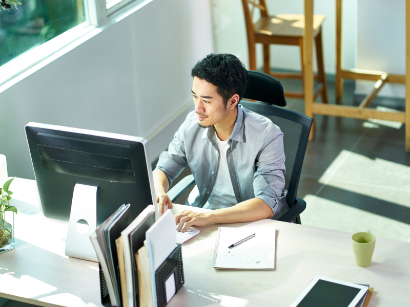
[(20, 0), (0, 13), (0, 66), (86, 21), (84, 0)]

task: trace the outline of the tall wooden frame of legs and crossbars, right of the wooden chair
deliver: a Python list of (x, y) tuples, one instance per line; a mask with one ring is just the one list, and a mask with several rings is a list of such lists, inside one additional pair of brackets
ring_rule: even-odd
[[(314, 19), (313, 16), (313, 0), (304, 0), (305, 16), (306, 16), (306, 38), (314, 37)], [(313, 27), (312, 27), (313, 26)], [(313, 28), (313, 31), (312, 31)], [(410, 152), (410, 0), (406, 0), (406, 76), (392, 75), (386, 72), (365, 71), (365, 70), (343, 70), (341, 60), (341, 29), (342, 29), (342, 0), (336, 0), (336, 103), (323, 104), (317, 103), (310, 98), (310, 95), (305, 97), (305, 115), (314, 116), (315, 114), (330, 115), (338, 117), (350, 117), (358, 119), (382, 119), (405, 123), (405, 150)], [(305, 76), (313, 75), (312, 66), (312, 51), (313, 46), (307, 43), (306, 39), (304, 51), (306, 53)], [(376, 81), (373, 91), (368, 94), (359, 106), (340, 105), (342, 102), (343, 79), (360, 79)], [(406, 85), (406, 102), (405, 112), (382, 112), (376, 109), (368, 108), (377, 93), (386, 82), (402, 83)], [(313, 92), (313, 82), (309, 80), (308, 84), (304, 84), (304, 92)], [(309, 139), (313, 138), (311, 135)]]

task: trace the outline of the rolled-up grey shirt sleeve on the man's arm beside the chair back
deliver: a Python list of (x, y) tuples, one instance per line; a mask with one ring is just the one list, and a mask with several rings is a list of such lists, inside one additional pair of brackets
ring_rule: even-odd
[(277, 204), (286, 196), (285, 155), (283, 151), (283, 133), (275, 126), (264, 141), (256, 160), (256, 171), (253, 178), (255, 198), (267, 203), (274, 214)]

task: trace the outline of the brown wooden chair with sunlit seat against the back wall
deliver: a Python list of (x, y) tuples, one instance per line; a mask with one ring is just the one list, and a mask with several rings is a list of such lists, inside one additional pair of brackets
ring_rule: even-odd
[[(256, 71), (256, 43), (263, 44), (263, 72), (275, 78), (302, 78), (303, 67), (303, 29), (304, 15), (303, 14), (278, 14), (269, 16), (268, 8), (265, 0), (242, 0), (243, 12), (245, 15), (245, 23), (248, 34), (248, 49), (249, 49), (249, 68)], [(252, 9), (250, 9), (252, 7)], [(253, 11), (257, 8), (260, 10), (261, 18), (255, 24), (253, 22)], [(313, 16), (313, 37), (316, 42), (316, 56), (318, 74), (315, 79), (319, 80), (314, 91), (314, 101), (319, 96), (322, 97), (322, 102), (327, 103), (327, 87), (326, 77), (323, 67), (323, 48), (322, 48), (322, 23), (323, 15)], [(272, 73), (270, 66), (270, 51), (269, 45), (292, 45), (300, 47), (301, 58), (301, 73)], [(284, 92), (286, 97), (304, 98), (303, 93)]]

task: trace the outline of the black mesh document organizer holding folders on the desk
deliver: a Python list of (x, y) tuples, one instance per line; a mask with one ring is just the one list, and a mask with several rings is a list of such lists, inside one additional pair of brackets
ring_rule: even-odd
[[(178, 244), (174, 251), (163, 261), (162, 265), (155, 271), (155, 286), (157, 291), (157, 305), (163, 307), (167, 305), (167, 294), (165, 289), (165, 282), (174, 273), (175, 277), (175, 293), (181, 289), (185, 282), (183, 278), (182, 266), (182, 251), (181, 245)], [(119, 277), (119, 274), (117, 274)], [(111, 305), (110, 295), (108, 294), (107, 283), (104, 277), (101, 266), (99, 266), (99, 282), (101, 289), (101, 304), (106, 307), (114, 307)], [(119, 282), (119, 280), (118, 280)], [(138, 293), (138, 289), (136, 289)], [(121, 302), (119, 303), (121, 305)]]

